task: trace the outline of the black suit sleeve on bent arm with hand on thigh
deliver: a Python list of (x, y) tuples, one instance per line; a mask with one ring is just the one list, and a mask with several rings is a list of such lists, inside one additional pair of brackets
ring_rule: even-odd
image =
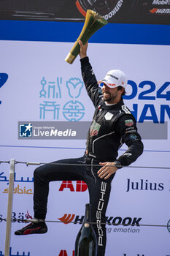
[(128, 146), (128, 149), (121, 155), (117, 161), (122, 166), (131, 165), (132, 162), (143, 152), (143, 143), (136, 127), (134, 116), (124, 115), (121, 116), (116, 123), (116, 132), (120, 135), (122, 143)]

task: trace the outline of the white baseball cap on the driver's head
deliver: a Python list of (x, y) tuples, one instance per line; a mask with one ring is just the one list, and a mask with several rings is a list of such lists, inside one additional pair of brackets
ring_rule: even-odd
[(105, 78), (98, 81), (98, 83), (105, 83), (109, 88), (115, 88), (117, 86), (122, 86), (125, 88), (127, 78), (123, 71), (115, 69), (107, 72)]

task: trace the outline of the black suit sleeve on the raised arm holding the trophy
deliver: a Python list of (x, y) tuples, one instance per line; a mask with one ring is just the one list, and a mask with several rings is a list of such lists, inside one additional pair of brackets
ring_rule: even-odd
[(93, 73), (93, 69), (90, 65), (88, 57), (80, 59), (80, 62), (82, 69), (82, 79), (85, 83), (85, 88), (88, 92), (88, 96), (90, 97), (90, 99), (93, 102), (93, 105), (96, 108), (102, 97), (102, 91), (98, 87), (96, 76)]

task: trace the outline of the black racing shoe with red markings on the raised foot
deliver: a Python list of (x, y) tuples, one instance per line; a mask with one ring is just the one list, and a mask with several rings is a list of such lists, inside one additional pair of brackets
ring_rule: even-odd
[(21, 230), (15, 231), (15, 235), (30, 235), (47, 233), (47, 225), (45, 222), (31, 222)]

